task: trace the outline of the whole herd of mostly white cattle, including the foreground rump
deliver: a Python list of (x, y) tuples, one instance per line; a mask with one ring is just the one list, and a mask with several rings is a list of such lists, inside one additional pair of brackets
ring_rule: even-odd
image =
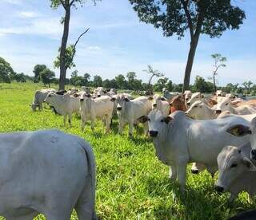
[[(82, 131), (90, 121), (102, 120), (110, 132), (112, 117), (118, 117), (118, 132), (126, 124), (133, 136), (142, 124), (153, 139), (156, 155), (170, 167), (170, 179), (181, 191), (186, 186), (186, 167), (198, 174), (206, 169), (219, 193), (229, 191), (230, 202), (241, 191), (256, 194), (256, 100), (242, 100), (222, 91), (212, 96), (162, 91), (162, 96), (138, 96), (106, 91), (36, 91), (33, 111), (43, 103), (53, 112), (81, 116)], [(79, 219), (95, 219), (95, 159), (90, 144), (58, 130), (1, 134), (0, 214), (6, 219), (31, 219), (38, 213), (48, 219), (70, 219), (73, 208)], [(203, 153), (202, 153), (203, 152)], [(6, 166), (8, 164), (8, 166)], [(75, 171), (75, 172), (74, 172)], [(47, 178), (46, 178), (47, 177)], [(15, 181), (20, 183), (14, 187)]]

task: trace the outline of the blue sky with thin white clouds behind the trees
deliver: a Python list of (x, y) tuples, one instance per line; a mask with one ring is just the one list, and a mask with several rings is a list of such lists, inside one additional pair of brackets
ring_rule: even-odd
[[(218, 83), (253, 81), (256, 83), (256, 1), (234, 0), (246, 11), (246, 20), (239, 30), (226, 31), (222, 37), (211, 39), (202, 35), (194, 61), (191, 81), (196, 75), (210, 77), (212, 53), (227, 57), (225, 69), (218, 72)], [(18, 73), (33, 75), (36, 64), (53, 69), (62, 37), (59, 24), (63, 10), (52, 10), (50, 0), (0, 1), (0, 57), (4, 57)], [(161, 29), (139, 22), (128, 0), (102, 0), (97, 6), (87, 3), (72, 10), (70, 43), (84, 29), (90, 31), (81, 39), (75, 57), (79, 73), (113, 78), (128, 71), (147, 81), (143, 69), (152, 65), (174, 83), (182, 83), (189, 36), (163, 37)], [(68, 72), (70, 73), (74, 70)], [(54, 69), (58, 76), (58, 69)]]

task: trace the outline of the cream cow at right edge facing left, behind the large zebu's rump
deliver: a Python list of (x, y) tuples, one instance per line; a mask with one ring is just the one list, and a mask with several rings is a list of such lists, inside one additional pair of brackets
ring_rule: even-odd
[(251, 107), (250, 105), (242, 105), (234, 108), (231, 104), (231, 101), (228, 97), (223, 99), (220, 103), (216, 106), (216, 113), (220, 114), (225, 111), (230, 111), (236, 115), (250, 115), (256, 113), (256, 108)]

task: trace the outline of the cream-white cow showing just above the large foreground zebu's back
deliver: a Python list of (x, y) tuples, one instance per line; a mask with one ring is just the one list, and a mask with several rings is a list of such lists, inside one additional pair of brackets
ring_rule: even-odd
[(217, 118), (215, 110), (210, 108), (201, 100), (195, 101), (190, 106), (190, 108), (186, 111), (186, 116), (189, 116), (195, 120), (210, 120)]

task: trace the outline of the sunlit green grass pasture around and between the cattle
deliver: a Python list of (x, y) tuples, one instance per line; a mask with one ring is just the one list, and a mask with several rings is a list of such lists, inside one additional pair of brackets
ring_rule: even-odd
[[(94, 133), (88, 124), (81, 132), (78, 116), (74, 116), (72, 128), (63, 128), (62, 116), (55, 116), (50, 109), (31, 111), (29, 104), (39, 88), (41, 84), (2, 84), (0, 132), (58, 128), (87, 139), (96, 156), (99, 219), (226, 219), (255, 206), (247, 202), (245, 193), (229, 205), (229, 194), (214, 191), (216, 175), (214, 179), (206, 171), (191, 175), (190, 168), (186, 192), (180, 194), (177, 184), (168, 178), (168, 167), (156, 158), (152, 141), (142, 135), (142, 128), (134, 130), (134, 138), (127, 136), (127, 128), (119, 136), (115, 119), (110, 134), (105, 134), (100, 122)], [(37, 219), (45, 218), (39, 215)], [(77, 219), (75, 213), (71, 219)]]

